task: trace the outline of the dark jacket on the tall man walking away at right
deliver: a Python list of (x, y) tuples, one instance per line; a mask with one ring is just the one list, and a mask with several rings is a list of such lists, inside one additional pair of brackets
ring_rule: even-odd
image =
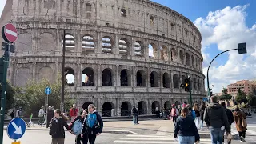
[(211, 128), (221, 128), (225, 126), (226, 131), (230, 132), (230, 123), (226, 116), (226, 111), (218, 102), (210, 102), (206, 107), (204, 120)]

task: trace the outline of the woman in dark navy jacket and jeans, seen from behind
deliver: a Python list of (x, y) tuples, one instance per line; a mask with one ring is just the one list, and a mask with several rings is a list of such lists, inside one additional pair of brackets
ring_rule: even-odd
[(188, 108), (183, 107), (181, 116), (177, 119), (177, 124), (174, 128), (174, 138), (178, 136), (180, 144), (198, 143), (200, 141), (198, 129), (194, 124), (194, 119), (187, 114), (189, 114)]

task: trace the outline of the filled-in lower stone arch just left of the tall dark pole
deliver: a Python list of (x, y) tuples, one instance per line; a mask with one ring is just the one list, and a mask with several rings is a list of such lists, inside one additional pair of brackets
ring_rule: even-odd
[(50, 68), (49, 66), (46, 67), (42, 67), (39, 70), (39, 78), (38, 81), (42, 81), (42, 79), (46, 79), (49, 82), (54, 82), (55, 78), (54, 78), (54, 70), (52, 68)]

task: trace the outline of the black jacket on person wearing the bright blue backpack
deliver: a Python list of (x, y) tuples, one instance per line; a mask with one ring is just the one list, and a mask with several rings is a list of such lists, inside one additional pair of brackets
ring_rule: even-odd
[(95, 134), (96, 135), (98, 133), (102, 133), (102, 130), (103, 130), (102, 117), (98, 114), (97, 111), (95, 111), (93, 114), (96, 114), (98, 123), (93, 128), (89, 128), (87, 126), (87, 117), (86, 117), (82, 124), (82, 134)]

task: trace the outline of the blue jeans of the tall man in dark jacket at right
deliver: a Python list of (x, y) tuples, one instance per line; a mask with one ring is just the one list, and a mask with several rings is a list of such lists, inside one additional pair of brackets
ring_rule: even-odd
[(221, 128), (210, 128), (210, 138), (212, 144), (222, 144), (223, 135), (225, 130)]

